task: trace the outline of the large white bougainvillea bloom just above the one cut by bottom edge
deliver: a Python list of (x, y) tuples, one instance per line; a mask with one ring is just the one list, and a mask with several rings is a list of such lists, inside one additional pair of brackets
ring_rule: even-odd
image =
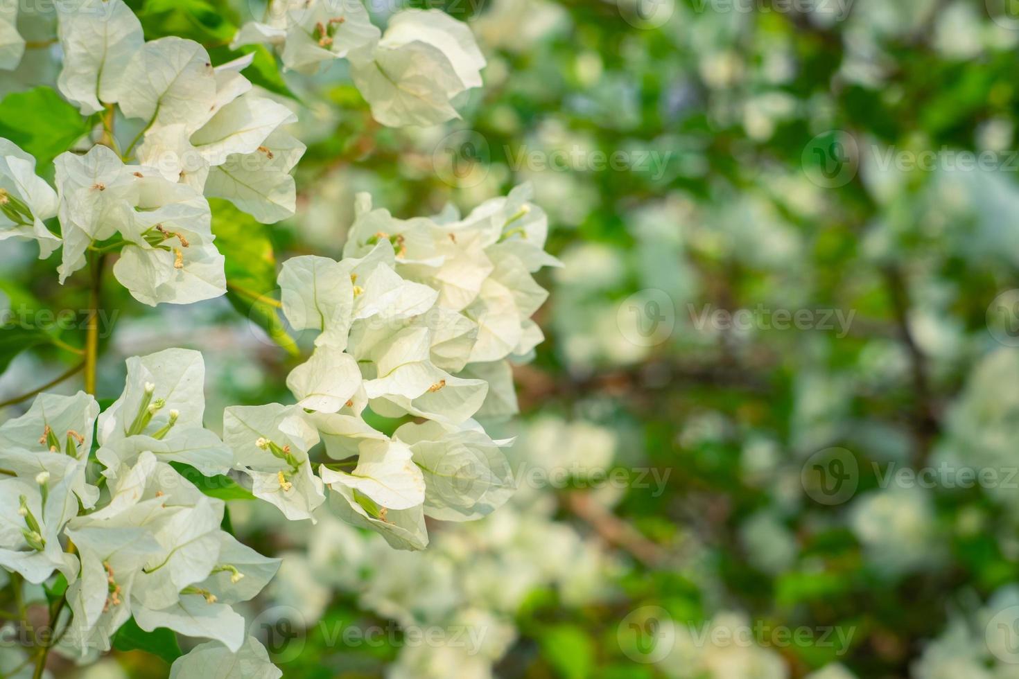
[[(224, 602), (254, 597), (278, 562), (237, 545), (220, 530), (222, 516), (221, 501), (153, 453), (124, 466), (110, 504), (67, 528), (83, 559), (83, 584), (68, 591), (84, 623), (72, 645), (108, 645), (109, 635), (133, 615), (147, 631), (167, 627), (238, 648), (244, 619)], [(103, 575), (106, 586), (88, 586)]]

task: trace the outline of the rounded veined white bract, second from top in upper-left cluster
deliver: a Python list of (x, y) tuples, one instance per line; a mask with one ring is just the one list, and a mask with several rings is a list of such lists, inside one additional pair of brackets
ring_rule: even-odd
[(128, 118), (150, 125), (207, 120), (216, 101), (216, 76), (205, 48), (192, 40), (167, 36), (146, 43), (123, 69), (130, 83), (119, 98)]

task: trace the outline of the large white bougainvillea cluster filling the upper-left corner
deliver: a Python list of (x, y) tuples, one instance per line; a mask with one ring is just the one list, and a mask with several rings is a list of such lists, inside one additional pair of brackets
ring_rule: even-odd
[[(281, 125), (296, 116), (252, 93), (240, 74), (251, 55), (213, 67), (194, 41), (145, 42), (122, 0), (58, 8), (57, 87), (83, 114), (104, 114), (106, 145), (60, 155), (54, 191), (36, 176), (31, 156), (0, 140), (0, 239), (35, 239), (41, 258), (62, 245), (64, 282), (86, 265), (93, 243), (119, 235), (113, 273), (140, 301), (223, 294), (223, 257), (205, 196), (227, 199), (262, 222), (292, 215), (289, 172), (305, 146)], [(145, 121), (122, 152), (109, 130), (117, 109)], [(132, 156), (138, 164), (125, 164)], [(44, 224), (52, 217), (59, 217), (60, 236)]]

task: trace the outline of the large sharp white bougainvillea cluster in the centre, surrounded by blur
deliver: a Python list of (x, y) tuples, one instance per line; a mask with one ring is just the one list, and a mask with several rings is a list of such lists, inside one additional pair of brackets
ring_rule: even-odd
[[(343, 260), (283, 264), (283, 314), (318, 335), (286, 380), (297, 404), (226, 409), (225, 441), (257, 497), (313, 518), (328, 486), (345, 520), (416, 550), (428, 544), (426, 515), (471, 520), (505, 502), (508, 441), (475, 418), (517, 411), (509, 361), (542, 339), (530, 317), (546, 293), (531, 272), (555, 260), (528, 196), (522, 186), (465, 219), (404, 221), (361, 195)], [(420, 419), (388, 437), (364, 420), (369, 406)], [(331, 461), (315, 469), (320, 441)]]

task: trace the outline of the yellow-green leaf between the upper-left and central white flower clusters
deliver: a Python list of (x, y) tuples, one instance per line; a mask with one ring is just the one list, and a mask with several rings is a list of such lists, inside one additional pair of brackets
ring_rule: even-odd
[(291, 355), (297, 343), (287, 332), (272, 294), (276, 290), (276, 258), (268, 228), (227, 201), (210, 199), (216, 246), (226, 258), (226, 298)]

